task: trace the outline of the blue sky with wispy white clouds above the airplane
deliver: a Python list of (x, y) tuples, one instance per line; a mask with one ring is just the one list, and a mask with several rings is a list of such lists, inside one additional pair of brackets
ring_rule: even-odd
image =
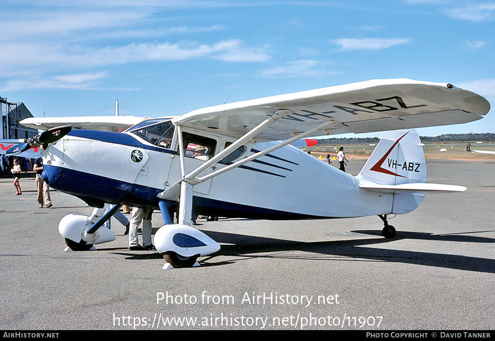
[[(495, 1), (3, 0), (0, 33), (0, 97), (35, 117), (115, 115), (116, 99), (121, 115), (182, 115), (392, 78), (495, 105)], [(495, 133), (494, 110), (418, 132)]]

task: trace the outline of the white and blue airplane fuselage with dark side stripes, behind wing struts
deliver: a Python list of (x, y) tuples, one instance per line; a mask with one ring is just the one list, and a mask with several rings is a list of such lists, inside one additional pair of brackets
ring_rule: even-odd
[[(183, 139), (186, 174), (236, 140), (188, 129)], [(203, 174), (274, 144), (247, 143)], [(177, 129), (159, 120), (124, 133), (73, 130), (44, 151), (44, 166), (50, 187), (91, 205), (156, 207), (157, 195), (182, 178)], [(293, 146), (200, 183), (193, 195), (196, 214), (265, 219), (388, 214), (393, 201)]]

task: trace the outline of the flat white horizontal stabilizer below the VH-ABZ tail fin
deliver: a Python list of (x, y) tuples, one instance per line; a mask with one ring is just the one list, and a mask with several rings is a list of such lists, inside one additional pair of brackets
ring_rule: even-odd
[(464, 192), (467, 190), (464, 186), (455, 185), (440, 185), (427, 183), (412, 183), (400, 185), (380, 185), (372, 183), (359, 184), (359, 187), (371, 191), (382, 193), (408, 193), (408, 192), (429, 192), (429, 193), (448, 193), (448, 192)]

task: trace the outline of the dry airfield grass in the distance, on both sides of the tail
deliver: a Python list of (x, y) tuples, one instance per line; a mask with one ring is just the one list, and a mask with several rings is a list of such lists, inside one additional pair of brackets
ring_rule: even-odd
[[(326, 158), (327, 154), (330, 154), (330, 158), (337, 156), (339, 148), (343, 146), (344, 152), (348, 159), (367, 159), (376, 146), (370, 145), (317, 145), (312, 147), (307, 147), (303, 149), (304, 151), (310, 151), (311, 155), (319, 157), (320, 155), (323, 159)], [(445, 148), (446, 151), (440, 151), (440, 149)], [(484, 142), (481, 144), (472, 143), (471, 152), (466, 151), (466, 143), (464, 142), (452, 142), (452, 143), (430, 143), (423, 146), (423, 151), (426, 158), (431, 159), (451, 159), (451, 160), (471, 160), (471, 161), (488, 161), (495, 160), (495, 154), (480, 154), (475, 153), (473, 150), (489, 150), (495, 151), (495, 142)]]

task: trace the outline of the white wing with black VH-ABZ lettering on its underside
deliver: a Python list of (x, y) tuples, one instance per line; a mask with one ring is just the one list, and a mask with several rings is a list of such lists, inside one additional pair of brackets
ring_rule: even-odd
[(372, 80), (198, 109), (174, 124), (239, 138), (266, 118), (277, 122), (255, 141), (286, 140), (318, 126), (309, 136), (432, 127), (478, 120), (490, 103), (446, 83)]

